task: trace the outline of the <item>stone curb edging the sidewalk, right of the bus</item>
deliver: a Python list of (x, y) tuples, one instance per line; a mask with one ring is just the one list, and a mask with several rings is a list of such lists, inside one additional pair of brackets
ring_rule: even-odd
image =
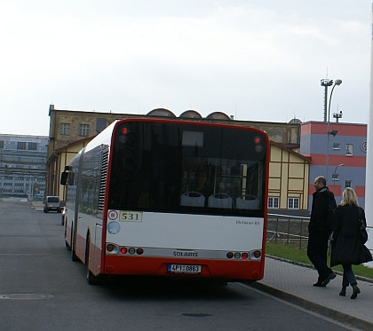
[(346, 313), (324, 307), (321, 304), (313, 303), (301, 297), (290, 295), (289, 293), (286, 293), (278, 288), (272, 288), (266, 284), (258, 282), (246, 283), (246, 285), (250, 286), (251, 288), (256, 288), (259, 291), (265, 292), (270, 296), (276, 296), (284, 301), (296, 304), (299, 307), (306, 309), (307, 311), (316, 312), (322, 316), (328, 317), (329, 319), (337, 320), (352, 327), (357, 327), (365, 331), (371, 331), (373, 329), (373, 323), (370, 323), (364, 319), (358, 319)]

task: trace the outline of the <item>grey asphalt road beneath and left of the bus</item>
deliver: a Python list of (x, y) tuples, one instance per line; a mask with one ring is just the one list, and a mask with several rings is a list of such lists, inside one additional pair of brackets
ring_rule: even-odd
[(90, 286), (60, 214), (0, 201), (0, 330), (352, 330), (239, 283), (119, 278)]

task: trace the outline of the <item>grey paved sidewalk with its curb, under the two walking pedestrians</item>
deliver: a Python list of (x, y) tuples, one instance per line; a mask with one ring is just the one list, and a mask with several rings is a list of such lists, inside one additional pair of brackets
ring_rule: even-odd
[(346, 296), (338, 295), (342, 275), (337, 274), (326, 288), (313, 287), (317, 276), (312, 268), (266, 256), (264, 279), (250, 286), (330, 319), (362, 330), (373, 330), (373, 283), (358, 280), (361, 294), (352, 300), (351, 287), (347, 288)]

